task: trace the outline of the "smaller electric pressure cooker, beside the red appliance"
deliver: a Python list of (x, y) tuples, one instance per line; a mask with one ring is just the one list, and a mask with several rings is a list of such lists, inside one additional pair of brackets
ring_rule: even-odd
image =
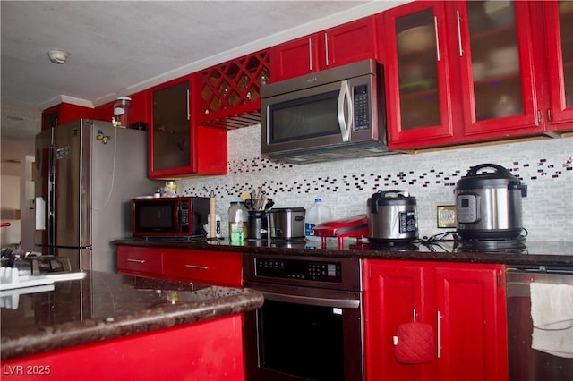
[(418, 238), (415, 197), (402, 190), (374, 193), (367, 202), (370, 241), (411, 242)]

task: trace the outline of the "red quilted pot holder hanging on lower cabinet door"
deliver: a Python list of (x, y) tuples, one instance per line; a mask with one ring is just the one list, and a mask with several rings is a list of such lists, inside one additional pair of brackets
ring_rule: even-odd
[(436, 356), (433, 328), (427, 323), (401, 324), (394, 336), (394, 345), (396, 360), (402, 364), (430, 362)]

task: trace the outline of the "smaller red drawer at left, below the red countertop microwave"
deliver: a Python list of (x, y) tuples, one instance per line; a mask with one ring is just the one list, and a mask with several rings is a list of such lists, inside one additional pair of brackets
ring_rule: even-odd
[(162, 278), (163, 252), (157, 248), (119, 246), (117, 248), (117, 272)]

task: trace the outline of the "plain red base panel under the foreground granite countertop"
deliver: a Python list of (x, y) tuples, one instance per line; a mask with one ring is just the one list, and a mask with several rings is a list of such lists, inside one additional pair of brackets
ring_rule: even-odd
[(242, 315), (2, 361), (3, 380), (243, 381)]

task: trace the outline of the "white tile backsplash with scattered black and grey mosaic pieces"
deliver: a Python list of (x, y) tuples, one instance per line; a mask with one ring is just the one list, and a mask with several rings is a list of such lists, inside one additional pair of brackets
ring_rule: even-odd
[[(261, 157), (261, 126), (228, 132), (228, 174), (178, 182), (180, 194), (217, 197), (222, 233), (227, 208), (242, 190), (262, 187), (275, 207), (311, 207), (315, 198), (333, 218), (366, 213), (378, 190), (405, 190), (416, 199), (420, 236), (443, 233), (436, 207), (455, 203), (456, 182), (474, 165), (502, 165), (527, 185), (527, 241), (573, 241), (573, 138), (291, 165)], [(450, 229), (455, 230), (455, 229)]]

